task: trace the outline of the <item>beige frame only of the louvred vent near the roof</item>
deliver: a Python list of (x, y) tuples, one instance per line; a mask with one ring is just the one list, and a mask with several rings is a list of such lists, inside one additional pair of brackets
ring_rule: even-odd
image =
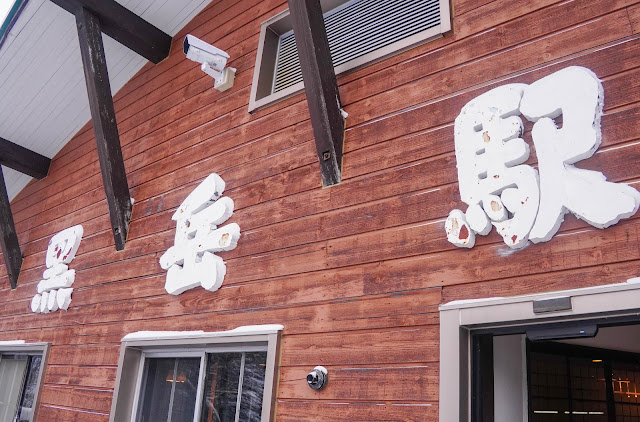
[[(342, 7), (351, 0), (320, 0), (322, 12)], [(381, 47), (363, 56), (352, 59), (340, 66), (336, 66), (335, 74), (340, 76), (386, 59), (387, 57), (399, 54), (418, 44), (426, 43), (440, 38), (444, 33), (451, 30), (452, 8), (450, 0), (439, 0), (440, 3), (440, 25), (429, 28), (410, 37), (396, 41), (387, 46)], [(256, 54), (256, 65), (253, 72), (253, 82), (251, 83), (251, 96), (249, 98), (249, 113), (258, 111), (271, 104), (290, 98), (304, 90), (304, 82), (298, 82), (288, 88), (275, 93), (266, 94), (266, 88), (271, 90), (273, 86), (273, 75), (275, 72), (275, 62), (278, 51), (279, 37), (292, 29), (289, 9), (267, 19), (260, 26), (260, 41)], [(269, 81), (270, 83), (267, 83)]]

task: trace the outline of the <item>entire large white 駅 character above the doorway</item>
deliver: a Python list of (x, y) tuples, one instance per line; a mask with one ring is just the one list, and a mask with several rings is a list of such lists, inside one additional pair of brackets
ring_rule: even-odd
[[(500, 86), (465, 105), (455, 122), (455, 147), (460, 197), (469, 207), (449, 214), (448, 240), (472, 248), (475, 236), (493, 226), (517, 249), (528, 240), (550, 240), (568, 212), (598, 228), (635, 214), (638, 191), (574, 166), (600, 146), (603, 104), (597, 76), (568, 67), (531, 85)], [(529, 146), (520, 115), (534, 122), (538, 170), (523, 164)]]

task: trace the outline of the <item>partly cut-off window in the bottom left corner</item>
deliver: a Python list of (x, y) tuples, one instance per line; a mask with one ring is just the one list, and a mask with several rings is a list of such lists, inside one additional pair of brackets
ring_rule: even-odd
[(0, 422), (36, 420), (47, 348), (0, 342)]

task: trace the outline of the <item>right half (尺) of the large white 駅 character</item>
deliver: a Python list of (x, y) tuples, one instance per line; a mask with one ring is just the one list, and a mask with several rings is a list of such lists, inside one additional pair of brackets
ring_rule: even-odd
[[(609, 227), (638, 211), (640, 193), (607, 182), (600, 172), (573, 164), (591, 157), (602, 139), (602, 83), (589, 69), (569, 67), (527, 88), (520, 112), (533, 125), (540, 171), (540, 207), (530, 234), (532, 242), (551, 239), (572, 212), (592, 226)], [(562, 115), (562, 128), (554, 121)]]

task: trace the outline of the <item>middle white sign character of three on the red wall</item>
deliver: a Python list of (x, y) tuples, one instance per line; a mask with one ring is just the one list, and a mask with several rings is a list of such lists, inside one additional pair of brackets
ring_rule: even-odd
[(160, 266), (168, 270), (168, 293), (179, 295), (197, 286), (213, 292), (222, 285), (227, 269), (214, 253), (234, 249), (240, 238), (236, 223), (218, 228), (233, 214), (233, 200), (221, 198), (224, 187), (220, 176), (209, 175), (171, 217), (177, 224), (175, 242), (160, 257)]

